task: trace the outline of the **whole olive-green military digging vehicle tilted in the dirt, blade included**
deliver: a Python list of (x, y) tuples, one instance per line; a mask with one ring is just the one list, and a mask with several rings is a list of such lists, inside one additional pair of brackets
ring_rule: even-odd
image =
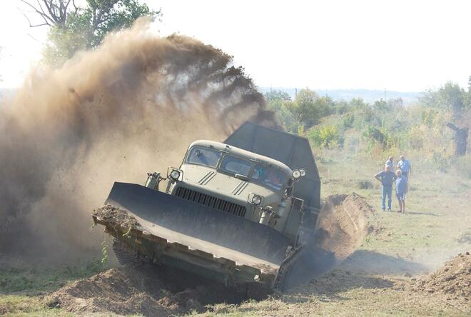
[[(126, 217), (100, 212), (110, 208)], [(115, 237), (122, 263), (283, 289), (313, 243), (319, 208), (308, 141), (247, 122), (222, 143), (194, 141), (180, 166), (148, 173), (143, 186), (114, 183), (93, 220)]]

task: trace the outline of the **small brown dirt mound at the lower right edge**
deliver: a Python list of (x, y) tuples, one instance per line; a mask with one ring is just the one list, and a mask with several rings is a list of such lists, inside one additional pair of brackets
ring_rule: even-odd
[(458, 254), (442, 268), (419, 278), (412, 284), (414, 291), (441, 292), (455, 296), (471, 297), (471, 255)]

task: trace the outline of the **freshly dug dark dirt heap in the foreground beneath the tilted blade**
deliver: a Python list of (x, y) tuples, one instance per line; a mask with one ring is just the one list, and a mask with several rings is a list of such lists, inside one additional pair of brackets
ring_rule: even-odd
[(140, 266), (112, 268), (71, 283), (47, 296), (46, 304), (78, 314), (173, 316), (206, 311), (209, 303), (239, 303), (243, 299), (232, 288), (167, 268)]

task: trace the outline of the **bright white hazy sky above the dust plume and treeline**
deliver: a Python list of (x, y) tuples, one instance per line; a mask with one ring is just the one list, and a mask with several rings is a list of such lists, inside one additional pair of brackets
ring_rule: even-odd
[[(471, 75), (467, 0), (146, 2), (161, 34), (223, 49), (259, 86), (423, 91)], [(0, 0), (0, 86), (21, 84), (46, 39), (18, 7)]]

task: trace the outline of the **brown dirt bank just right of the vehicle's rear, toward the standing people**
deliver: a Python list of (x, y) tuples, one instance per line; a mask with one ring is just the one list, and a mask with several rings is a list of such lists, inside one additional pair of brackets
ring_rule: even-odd
[(332, 195), (325, 199), (320, 213), (321, 246), (343, 260), (355, 251), (368, 233), (368, 216), (375, 212), (356, 193)]

